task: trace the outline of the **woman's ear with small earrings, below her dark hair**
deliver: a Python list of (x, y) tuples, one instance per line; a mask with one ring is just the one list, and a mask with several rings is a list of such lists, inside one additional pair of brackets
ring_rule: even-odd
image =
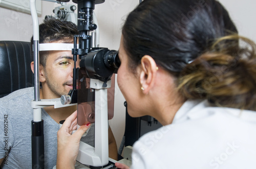
[(157, 75), (157, 64), (155, 60), (148, 55), (141, 58), (140, 84), (143, 93), (148, 93), (155, 84)]

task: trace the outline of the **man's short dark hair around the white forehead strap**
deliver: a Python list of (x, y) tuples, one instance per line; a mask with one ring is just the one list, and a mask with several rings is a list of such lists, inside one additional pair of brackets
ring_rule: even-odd
[[(61, 40), (62, 43), (73, 43), (74, 35), (78, 35), (75, 23), (66, 20), (48, 17), (39, 25), (39, 43), (51, 43)], [(33, 45), (33, 36), (31, 37), (31, 46)], [(49, 51), (39, 52), (39, 63), (46, 66), (46, 60)], [(31, 57), (33, 60), (33, 51), (31, 47)]]

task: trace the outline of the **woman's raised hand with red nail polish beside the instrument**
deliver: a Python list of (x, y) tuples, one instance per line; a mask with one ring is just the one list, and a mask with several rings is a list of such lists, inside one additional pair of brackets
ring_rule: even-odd
[[(79, 142), (84, 132), (90, 127), (90, 124), (77, 128), (77, 111), (71, 114), (63, 123), (57, 133), (58, 151), (57, 168), (75, 168), (76, 157), (79, 151)], [(72, 134), (72, 135), (71, 135)]]

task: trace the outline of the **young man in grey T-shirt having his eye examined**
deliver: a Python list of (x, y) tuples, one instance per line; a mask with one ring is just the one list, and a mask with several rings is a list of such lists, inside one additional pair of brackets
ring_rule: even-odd
[[(77, 27), (69, 21), (49, 18), (39, 26), (39, 43), (73, 43)], [(31, 42), (33, 38), (31, 39)], [(73, 84), (73, 55), (71, 51), (41, 51), (39, 65), (40, 99), (60, 98), (68, 94)], [(78, 66), (78, 62), (76, 63)], [(31, 63), (34, 72), (34, 62)], [(0, 99), (0, 164), (1, 168), (32, 168), (31, 157), (31, 120), (34, 100), (34, 87), (20, 89)], [(42, 108), (45, 135), (45, 168), (56, 165), (57, 131), (59, 121), (66, 119), (75, 110), (75, 106), (54, 109)], [(4, 128), (4, 124), (7, 124)], [(6, 129), (6, 130), (4, 130)], [(83, 141), (94, 146), (94, 125)], [(109, 127), (110, 157), (117, 159), (115, 138)]]

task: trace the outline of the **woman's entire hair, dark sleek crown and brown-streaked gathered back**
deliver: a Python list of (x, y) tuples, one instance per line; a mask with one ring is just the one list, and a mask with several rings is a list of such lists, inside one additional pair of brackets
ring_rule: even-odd
[(255, 44), (237, 35), (218, 1), (145, 0), (122, 34), (132, 69), (150, 55), (177, 78), (186, 99), (256, 110)]

